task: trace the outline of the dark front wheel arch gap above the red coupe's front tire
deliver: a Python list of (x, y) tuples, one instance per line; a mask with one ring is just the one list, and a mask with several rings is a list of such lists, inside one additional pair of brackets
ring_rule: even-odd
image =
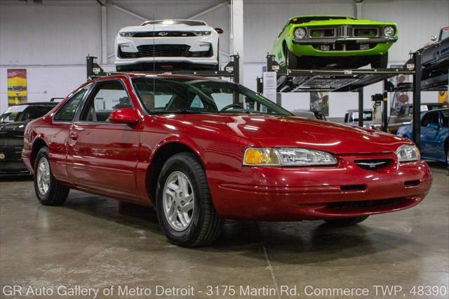
[(189, 152), (191, 154), (194, 154), (203, 168), (206, 168), (203, 159), (201, 159), (201, 152), (199, 152), (199, 150), (196, 150), (196, 147), (194, 145), (190, 145), (187, 142), (181, 142), (178, 140), (168, 141), (159, 145), (154, 151), (151, 162), (147, 167), (147, 173), (145, 177), (147, 192), (153, 204), (156, 203), (157, 181), (159, 179), (159, 174), (161, 173), (163, 164), (165, 164), (165, 162), (174, 154), (178, 154), (180, 152)]

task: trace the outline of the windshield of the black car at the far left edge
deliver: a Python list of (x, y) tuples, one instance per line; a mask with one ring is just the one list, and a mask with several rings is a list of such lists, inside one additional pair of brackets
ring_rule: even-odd
[(53, 109), (51, 105), (17, 105), (6, 109), (0, 116), (0, 123), (12, 123), (15, 121), (31, 121), (43, 117)]

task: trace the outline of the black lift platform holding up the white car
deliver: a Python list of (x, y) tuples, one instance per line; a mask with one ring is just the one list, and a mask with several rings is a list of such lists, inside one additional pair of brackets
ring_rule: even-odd
[[(227, 77), (231, 78), (232, 81), (239, 83), (239, 55), (229, 56), (231, 59), (225, 66), (224, 70), (213, 71), (213, 70), (159, 70), (149, 71), (149, 72), (132, 72), (133, 74), (180, 74), (180, 75), (190, 75), (199, 77)], [(92, 80), (98, 77), (110, 76), (114, 74), (129, 74), (130, 72), (105, 72), (100, 65), (97, 63), (97, 58), (94, 56), (86, 56), (86, 67), (87, 67), (87, 79)]]

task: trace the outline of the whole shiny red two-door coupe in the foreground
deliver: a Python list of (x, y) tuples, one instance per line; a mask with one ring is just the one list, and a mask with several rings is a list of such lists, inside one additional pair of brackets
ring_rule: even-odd
[(44, 205), (71, 188), (156, 208), (174, 244), (223, 220), (355, 224), (420, 203), (429, 166), (405, 138), (294, 117), (227, 81), (123, 74), (88, 81), (25, 130)]

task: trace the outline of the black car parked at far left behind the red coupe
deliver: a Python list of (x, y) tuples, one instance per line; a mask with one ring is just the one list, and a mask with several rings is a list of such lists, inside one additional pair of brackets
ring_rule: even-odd
[(0, 115), (0, 175), (27, 175), (21, 152), (29, 121), (42, 117), (58, 102), (31, 102), (11, 106)]

